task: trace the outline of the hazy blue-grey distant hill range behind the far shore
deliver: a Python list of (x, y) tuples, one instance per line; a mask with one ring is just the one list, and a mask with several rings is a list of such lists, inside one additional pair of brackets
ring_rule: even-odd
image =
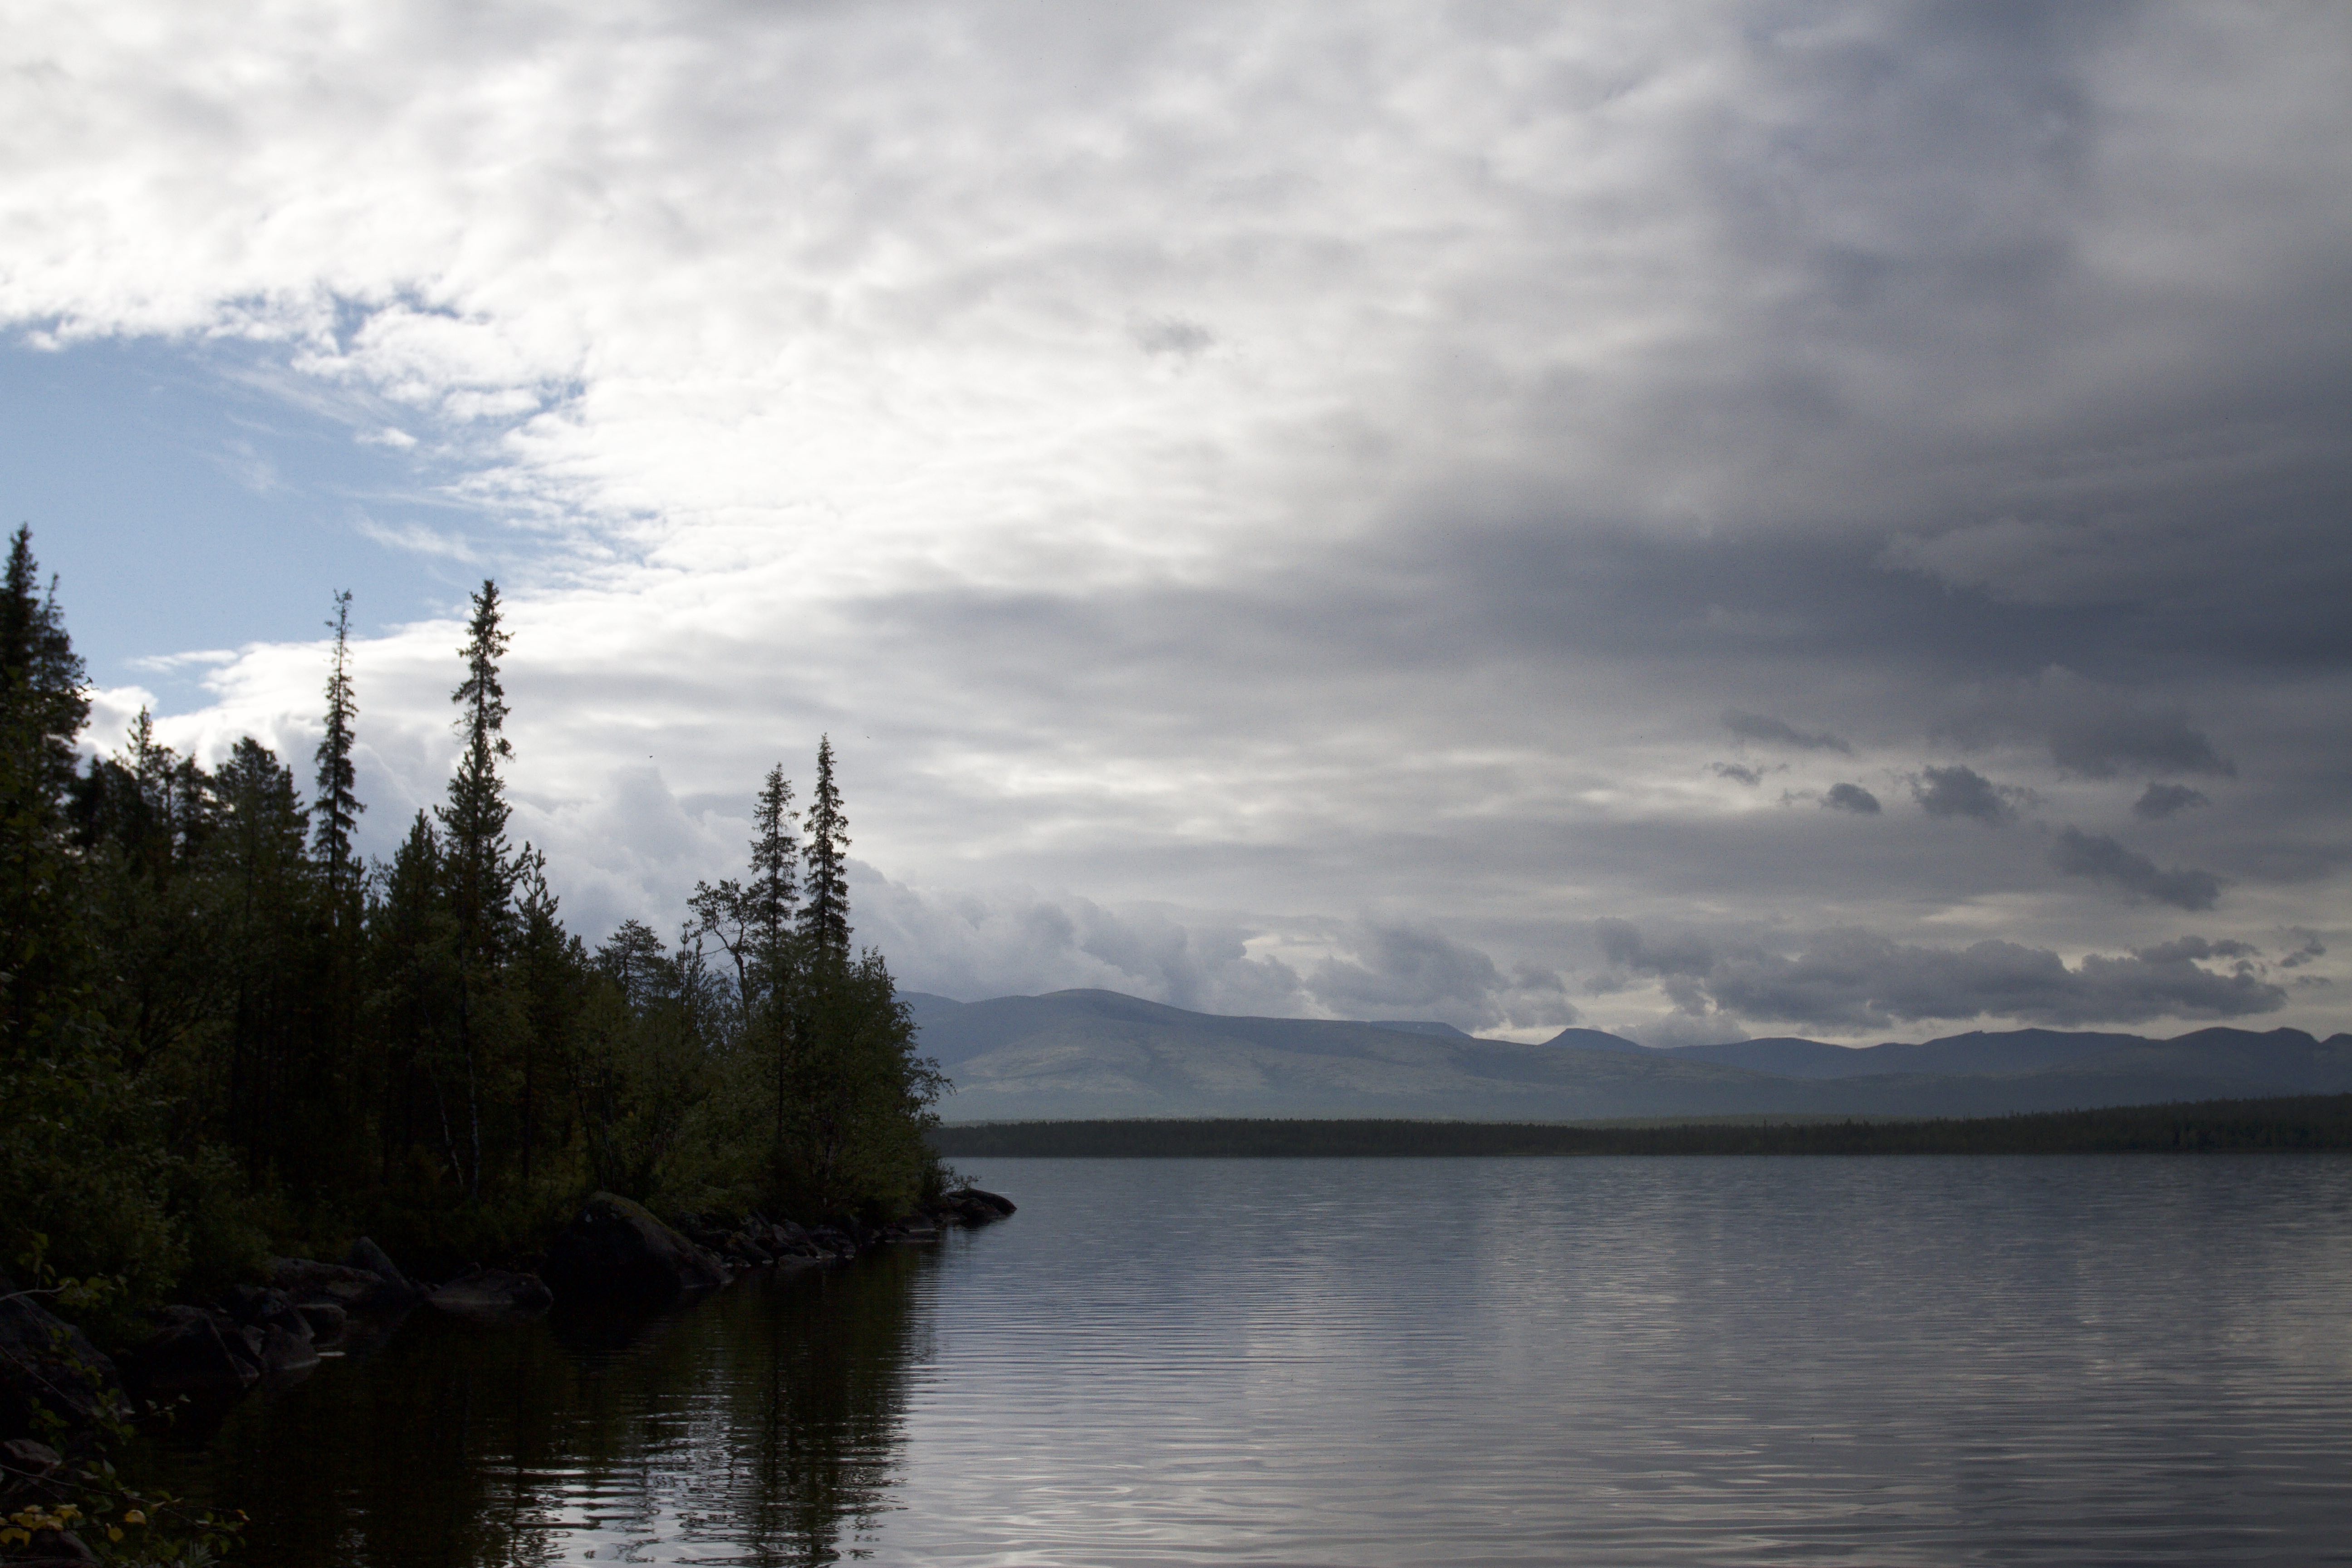
[(948, 1121), (1411, 1117), (1583, 1121), (1759, 1112), (1990, 1117), (2352, 1091), (2352, 1034), (2178, 1039), (1971, 1032), (1867, 1048), (1750, 1039), (1651, 1051), (1602, 1030), (1543, 1044), (1435, 1023), (1223, 1018), (1108, 990), (901, 997), (955, 1081)]

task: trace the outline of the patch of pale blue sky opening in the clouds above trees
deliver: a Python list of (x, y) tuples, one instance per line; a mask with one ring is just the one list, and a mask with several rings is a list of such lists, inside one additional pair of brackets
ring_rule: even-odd
[[(405, 418), (407, 416), (407, 418)], [(414, 411), (287, 369), (282, 346), (0, 346), (0, 522), (33, 529), (99, 686), (205, 703), (207, 651), (461, 614), (527, 543)]]

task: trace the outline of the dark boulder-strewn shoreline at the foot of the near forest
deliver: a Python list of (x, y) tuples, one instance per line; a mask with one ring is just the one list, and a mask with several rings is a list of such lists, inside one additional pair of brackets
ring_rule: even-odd
[[(0, 1274), (0, 1516), (66, 1507), (136, 1413), (174, 1399), (238, 1399), (292, 1382), (327, 1356), (367, 1349), (416, 1309), (470, 1324), (522, 1324), (564, 1305), (644, 1302), (717, 1291), (748, 1269), (842, 1265), (884, 1246), (938, 1241), (953, 1227), (1014, 1213), (995, 1192), (962, 1187), (887, 1225), (802, 1227), (748, 1213), (673, 1227), (642, 1204), (597, 1192), (529, 1267), (475, 1267), (437, 1284), (412, 1279), (362, 1237), (341, 1262), (273, 1258), (268, 1279), (209, 1305), (146, 1314), (153, 1333), (106, 1356), (82, 1331)], [(92, 1469), (94, 1474), (94, 1469)], [(71, 1530), (0, 1542), (0, 1561), (92, 1561)], [(24, 1556), (33, 1549), (35, 1556)]]

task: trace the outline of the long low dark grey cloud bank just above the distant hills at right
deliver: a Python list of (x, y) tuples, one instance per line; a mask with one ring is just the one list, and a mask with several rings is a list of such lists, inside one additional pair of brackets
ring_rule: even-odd
[[(2244, 1018), (2286, 1004), (2284, 990), (2244, 964), (2246, 945), (2232, 940), (2183, 938), (2124, 957), (2091, 954), (2067, 969), (2056, 952), (2018, 943), (1917, 947), (1867, 931), (1828, 931), (1797, 952), (1651, 943), (1625, 922), (1602, 922), (1597, 936), (1611, 964), (1656, 978), (1684, 1013), (1832, 1032), (1985, 1016), (2063, 1027)], [(2216, 973), (2199, 959), (2239, 964)]]

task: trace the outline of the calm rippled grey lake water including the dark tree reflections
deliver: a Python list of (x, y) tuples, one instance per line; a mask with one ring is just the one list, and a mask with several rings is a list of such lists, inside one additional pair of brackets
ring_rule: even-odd
[(981, 1161), (238, 1406), (249, 1563), (2352, 1561), (2352, 1161)]

